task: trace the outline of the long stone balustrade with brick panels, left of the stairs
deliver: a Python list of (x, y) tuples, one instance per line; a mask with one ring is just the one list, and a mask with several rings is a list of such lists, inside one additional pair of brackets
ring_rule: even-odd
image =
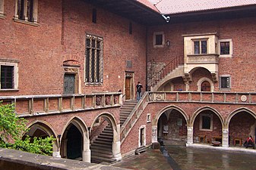
[(17, 115), (26, 117), (120, 107), (122, 105), (122, 94), (119, 92), (106, 92), (2, 96), (0, 101), (2, 101), (2, 104), (14, 104)]

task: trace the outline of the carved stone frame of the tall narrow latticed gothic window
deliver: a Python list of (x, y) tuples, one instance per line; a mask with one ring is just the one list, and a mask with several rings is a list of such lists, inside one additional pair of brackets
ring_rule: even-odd
[[(87, 39), (90, 39), (90, 45), (92, 43), (93, 40), (95, 41), (99, 41), (100, 42), (100, 48), (97, 49), (96, 47), (93, 48), (92, 46), (87, 46)], [(87, 33), (85, 36), (85, 60), (84, 60), (84, 83), (85, 85), (103, 85), (103, 38), (100, 36), (93, 36), (92, 34)], [(90, 57), (87, 58), (87, 49), (89, 50), (90, 53)], [(92, 71), (93, 69), (93, 65), (96, 67), (96, 63), (92, 64), (92, 51), (93, 49), (95, 51), (99, 50), (100, 51), (100, 62), (99, 62), (99, 80), (97, 80), (96, 82), (93, 80), (88, 80), (88, 79), (92, 79), (92, 73), (94, 74), (94, 78), (96, 79), (96, 70), (94, 70), (94, 72)], [(94, 57), (96, 57), (96, 54), (94, 54)]]

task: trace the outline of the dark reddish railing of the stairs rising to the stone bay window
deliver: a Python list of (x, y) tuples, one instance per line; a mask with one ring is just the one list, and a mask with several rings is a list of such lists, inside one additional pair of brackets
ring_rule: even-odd
[(154, 76), (151, 77), (150, 87), (153, 87), (157, 84), (157, 82), (160, 82), (161, 79), (163, 79), (172, 70), (175, 70), (175, 68), (181, 63), (182, 60), (180, 57), (173, 58), (169, 63), (166, 64), (166, 66), (163, 66), (160, 71), (158, 71)]

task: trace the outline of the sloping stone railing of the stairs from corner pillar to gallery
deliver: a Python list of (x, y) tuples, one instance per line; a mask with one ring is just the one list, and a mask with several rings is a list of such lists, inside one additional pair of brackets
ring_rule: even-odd
[(141, 113), (143, 113), (143, 110), (145, 107), (147, 107), (148, 104), (148, 98), (149, 98), (149, 92), (145, 92), (143, 96), (141, 97), (141, 100), (137, 102), (137, 105), (134, 107), (134, 109), (131, 111), (128, 118), (125, 120), (124, 124), (121, 126), (120, 131), (120, 141), (121, 144), (123, 141), (125, 141), (125, 138), (131, 131), (131, 128), (135, 125), (137, 122), (137, 119), (140, 118)]

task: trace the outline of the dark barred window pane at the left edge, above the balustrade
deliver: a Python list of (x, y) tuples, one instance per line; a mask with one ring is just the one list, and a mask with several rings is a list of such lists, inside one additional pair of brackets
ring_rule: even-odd
[(14, 66), (1, 66), (1, 88), (14, 88)]

